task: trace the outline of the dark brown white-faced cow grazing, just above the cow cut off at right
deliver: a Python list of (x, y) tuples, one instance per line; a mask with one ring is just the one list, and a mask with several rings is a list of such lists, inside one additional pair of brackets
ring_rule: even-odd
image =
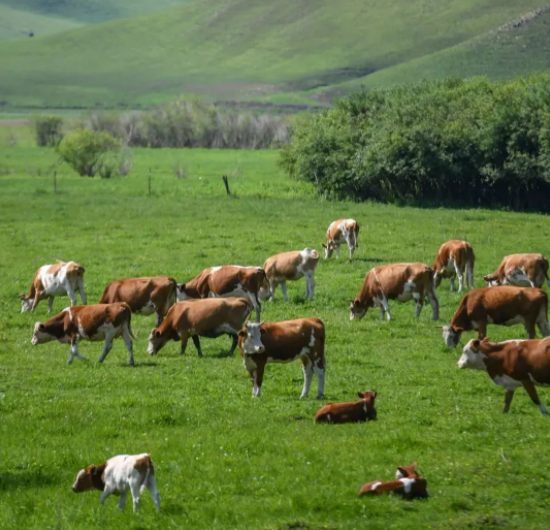
[(534, 287), (482, 287), (473, 289), (460, 301), (451, 323), (442, 326), (443, 340), (456, 348), (463, 331), (477, 331), (478, 338), (487, 336), (487, 324), (512, 326), (523, 324), (527, 336), (534, 339), (537, 325), (543, 336), (548, 327), (548, 295)]

